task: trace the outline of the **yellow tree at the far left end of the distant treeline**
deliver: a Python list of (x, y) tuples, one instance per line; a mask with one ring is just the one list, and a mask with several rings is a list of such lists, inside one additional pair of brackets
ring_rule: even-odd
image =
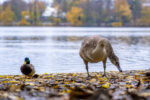
[(15, 19), (15, 14), (11, 10), (11, 6), (8, 5), (0, 14), (0, 20), (3, 25), (12, 25)]

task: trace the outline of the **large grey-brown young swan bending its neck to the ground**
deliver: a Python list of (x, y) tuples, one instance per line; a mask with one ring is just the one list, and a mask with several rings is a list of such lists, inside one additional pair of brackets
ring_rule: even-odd
[(112, 45), (107, 38), (99, 35), (86, 37), (81, 44), (79, 55), (85, 64), (88, 77), (90, 76), (88, 63), (98, 63), (101, 61), (104, 68), (103, 76), (106, 76), (106, 62), (108, 58), (122, 72), (119, 58), (114, 53)]

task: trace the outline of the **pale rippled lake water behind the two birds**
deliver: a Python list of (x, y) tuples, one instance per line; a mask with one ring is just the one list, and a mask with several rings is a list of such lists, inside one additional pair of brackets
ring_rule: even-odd
[[(38, 74), (86, 72), (79, 48), (91, 35), (110, 40), (123, 70), (150, 68), (150, 28), (0, 27), (0, 75), (21, 74), (25, 57)], [(117, 68), (108, 60), (106, 70)], [(89, 71), (103, 71), (102, 63)]]

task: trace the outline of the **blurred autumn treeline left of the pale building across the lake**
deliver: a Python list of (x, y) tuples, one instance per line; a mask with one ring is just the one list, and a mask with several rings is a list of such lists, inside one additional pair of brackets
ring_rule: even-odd
[(42, 25), (45, 9), (46, 4), (39, 0), (7, 0), (0, 5), (0, 25)]

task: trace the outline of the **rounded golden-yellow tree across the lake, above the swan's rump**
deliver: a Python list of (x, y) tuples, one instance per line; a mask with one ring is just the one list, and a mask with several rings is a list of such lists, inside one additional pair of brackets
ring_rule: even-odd
[(83, 10), (79, 7), (72, 7), (66, 15), (67, 21), (73, 26), (81, 26), (83, 24), (82, 19), (84, 18)]

